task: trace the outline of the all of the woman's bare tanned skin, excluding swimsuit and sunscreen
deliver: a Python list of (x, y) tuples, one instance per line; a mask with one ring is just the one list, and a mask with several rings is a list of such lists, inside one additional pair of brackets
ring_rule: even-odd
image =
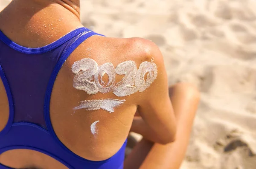
[[(13, 0), (0, 12), (0, 30), (19, 45), (42, 47), (83, 27), (79, 4), (79, 0)], [(88, 95), (73, 87), (75, 74), (71, 70), (74, 62), (87, 57), (98, 65), (110, 62), (114, 68), (128, 60), (137, 66), (154, 60), (158, 75), (143, 92), (124, 97), (111, 92)], [(122, 78), (116, 75), (115, 82)], [(103, 76), (103, 80), (108, 82), (108, 76)], [(125, 99), (125, 103), (113, 113), (83, 109), (74, 112), (81, 100), (107, 98)], [(1, 84), (0, 101), (1, 130), (9, 116), (8, 100)], [(153, 42), (141, 38), (93, 36), (76, 48), (61, 68), (52, 90), (50, 118), (61, 142), (88, 160), (110, 158), (133, 131), (143, 135), (143, 140), (126, 158), (125, 169), (178, 169), (185, 156), (198, 102), (199, 92), (192, 85), (168, 86), (163, 56)], [(96, 136), (92, 137), (90, 125), (95, 121), (100, 122)], [(4, 152), (0, 163), (13, 168), (66, 168), (47, 155), (26, 149)]]

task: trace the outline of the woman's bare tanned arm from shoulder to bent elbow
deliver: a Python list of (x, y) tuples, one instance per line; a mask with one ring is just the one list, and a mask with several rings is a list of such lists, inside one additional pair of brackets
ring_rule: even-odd
[(175, 114), (169, 98), (163, 56), (157, 45), (148, 41), (147, 43), (149, 45), (147, 59), (152, 60), (157, 65), (158, 73), (157, 78), (140, 98), (137, 110), (141, 118), (134, 118), (131, 131), (143, 135), (150, 141), (167, 144), (175, 141)]

